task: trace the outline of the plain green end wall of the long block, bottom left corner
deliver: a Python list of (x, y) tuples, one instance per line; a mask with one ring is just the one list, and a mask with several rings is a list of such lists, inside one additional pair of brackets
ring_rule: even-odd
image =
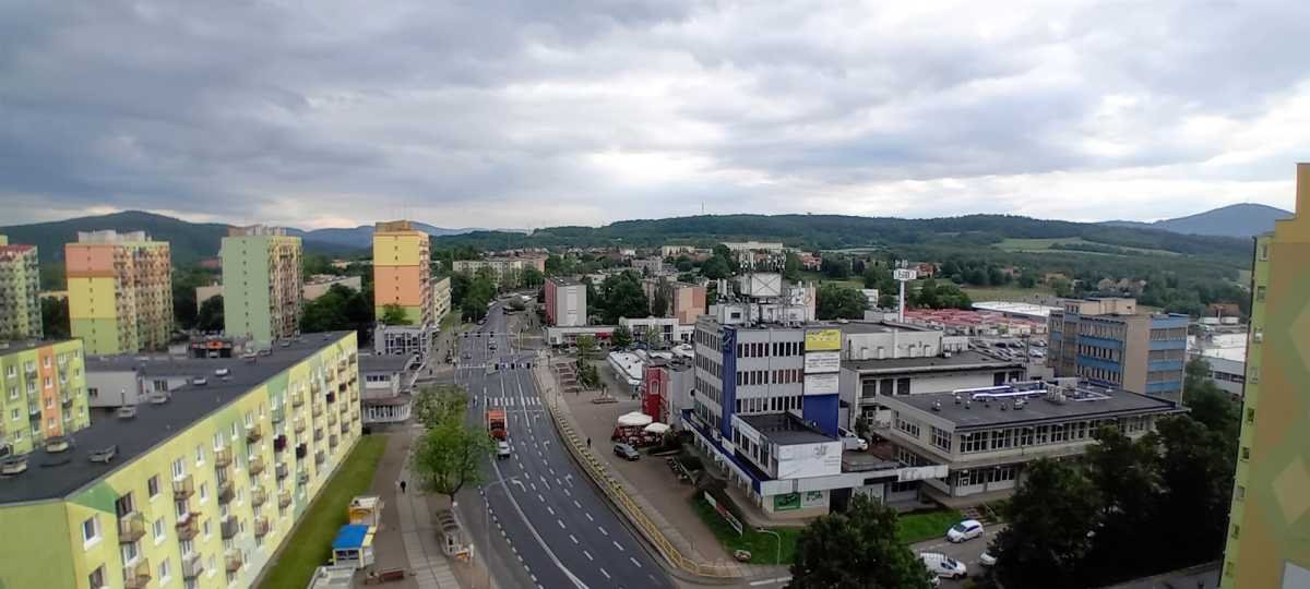
[[(0, 507), (0, 530), (12, 534), (0, 550), (0, 589), (77, 586), (72, 550), (83, 550), (81, 531), (69, 530), (67, 521), (59, 501)], [(85, 576), (80, 582), (86, 585)]]

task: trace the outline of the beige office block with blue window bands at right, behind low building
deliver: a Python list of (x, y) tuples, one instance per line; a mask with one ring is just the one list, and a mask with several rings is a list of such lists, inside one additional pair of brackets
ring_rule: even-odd
[(1134, 298), (1064, 300), (1047, 319), (1056, 377), (1180, 402), (1187, 315), (1140, 313)]

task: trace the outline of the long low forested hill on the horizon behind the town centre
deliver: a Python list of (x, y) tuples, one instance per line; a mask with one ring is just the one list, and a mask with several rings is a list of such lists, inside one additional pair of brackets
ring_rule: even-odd
[(1010, 215), (969, 215), (945, 219), (854, 217), (840, 215), (706, 215), (693, 217), (618, 221), (599, 228), (557, 226), (531, 236), (474, 232), (436, 238), (438, 246), (479, 249), (592, 245), (710, 245), (731, 240), (772, 240), (806, 249), (844, 249), (896, 245), (989, 246), (1006, 240), (1073, 240), (1065, 249), (1161, 250), (1204, 255), (1247, 266), (1250, 240), (1188, 236), (1158, 229), (1104, 224), (1049, 221)]

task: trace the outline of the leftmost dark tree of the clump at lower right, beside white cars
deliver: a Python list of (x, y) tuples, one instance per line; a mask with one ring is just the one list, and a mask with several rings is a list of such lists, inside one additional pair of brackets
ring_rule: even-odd
[(1047, 458), (1030, 462), (1011, 499), (1010, 526), (992, 544), (996, 576), (1006, 586), (1087, 586), (1082, 563), (1091, 548), (1091, 522), (1100, 512), (1096, 490), (1074, 466)]

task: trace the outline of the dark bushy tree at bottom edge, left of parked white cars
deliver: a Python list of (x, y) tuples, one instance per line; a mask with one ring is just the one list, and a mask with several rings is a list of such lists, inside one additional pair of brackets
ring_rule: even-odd
[(927, 589), (930, 581), (924, 563), (896, 538), (896, 510), (857, 493), (846, 513), (821, 516), (800, 530), (787, 586)]

